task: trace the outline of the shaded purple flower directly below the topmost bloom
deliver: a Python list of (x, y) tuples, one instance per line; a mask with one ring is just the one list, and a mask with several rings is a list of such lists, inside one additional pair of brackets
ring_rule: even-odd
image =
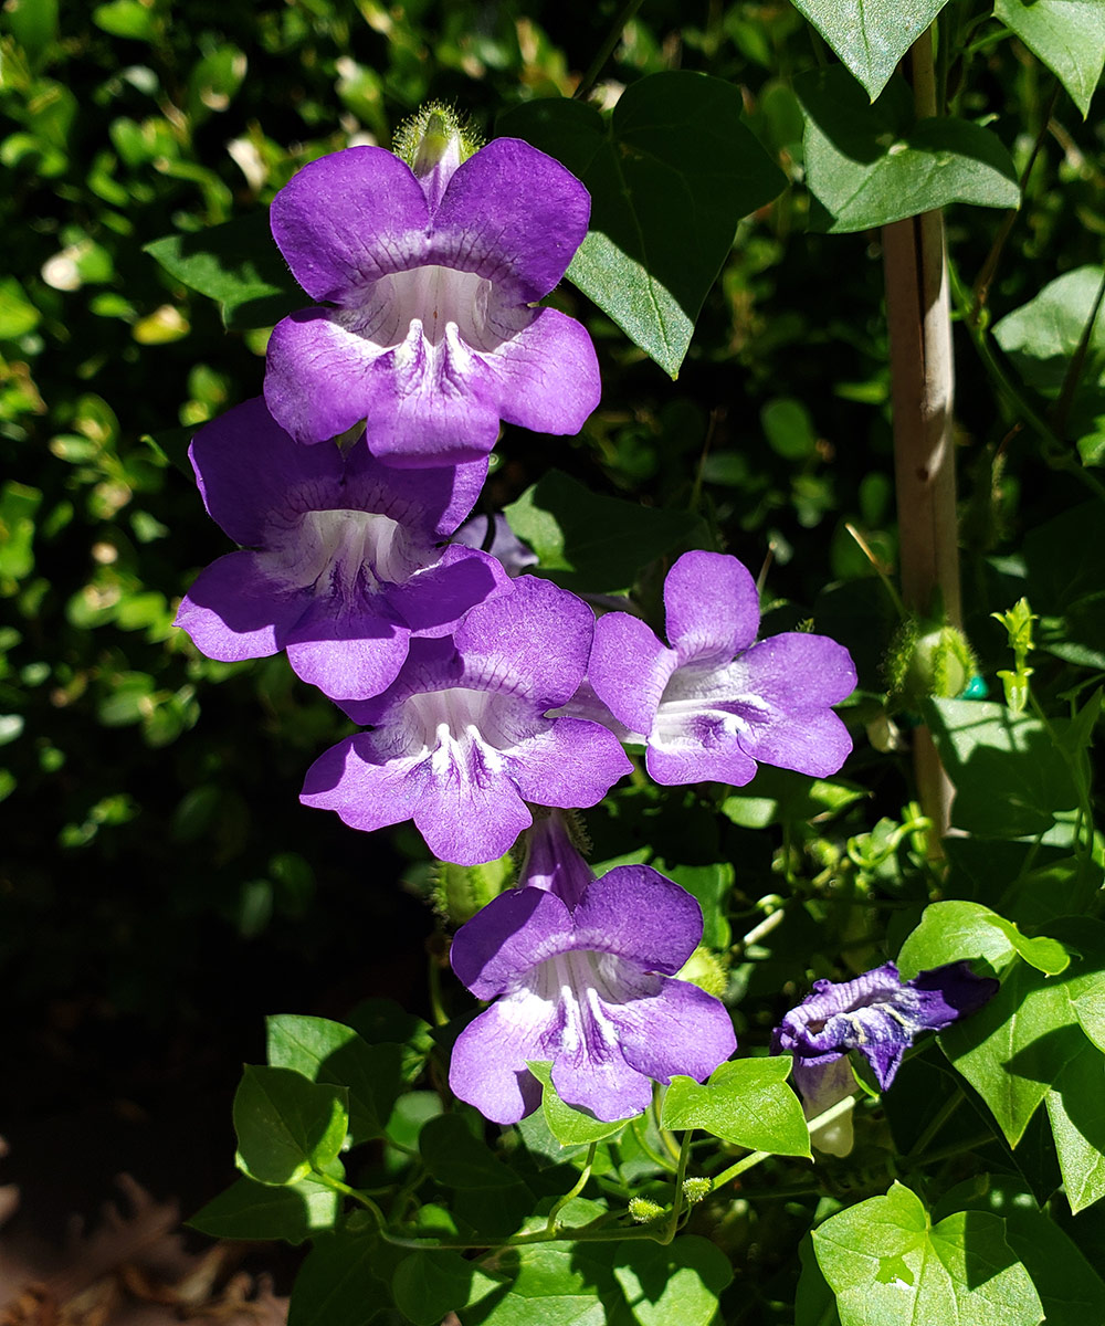
[(337, 700), (378, 695), (413, 636), (454, 630), (509, 589), (493, 557), (440, 546), (479, 495), (486, 464), (397, 471), (363, 440), (301, 447), (264, 400), (202, 428), (188, 455), (204, 504), (247, 545), (200, 572), (176, 614), (208, 658), (288, 651)]

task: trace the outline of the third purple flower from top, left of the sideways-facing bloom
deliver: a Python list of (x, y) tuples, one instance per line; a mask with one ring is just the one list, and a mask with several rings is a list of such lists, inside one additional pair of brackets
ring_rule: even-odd
[(354, 829), (413, 818), (460, 866), (501, 857), (532, 821), (527, 801), (593, 806), (629, 760), (597, 723), (545, 716), (578, 686), (592, 629), (574, 594), (523, 575), (451, 640), (413, 640), (382, 695), (342, 705), (373, 731), (316, 760), (301, 800)]

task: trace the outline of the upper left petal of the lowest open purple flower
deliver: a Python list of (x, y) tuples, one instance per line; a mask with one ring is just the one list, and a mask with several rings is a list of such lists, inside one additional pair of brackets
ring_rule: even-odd
[(476, 998), (495, 998), (537, 963), (573, 944), (572, 915), (556, 894), (515, 888), (458, 930), (450, 961)]

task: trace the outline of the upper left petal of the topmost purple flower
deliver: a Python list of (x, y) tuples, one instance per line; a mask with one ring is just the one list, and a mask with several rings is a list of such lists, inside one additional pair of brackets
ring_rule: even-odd
[(313, 300), (344, 304), (382, 276), (430, 261), (426, 195), (382, 147), (308, 163), (272, 200), (271, 217), (280, 252)]

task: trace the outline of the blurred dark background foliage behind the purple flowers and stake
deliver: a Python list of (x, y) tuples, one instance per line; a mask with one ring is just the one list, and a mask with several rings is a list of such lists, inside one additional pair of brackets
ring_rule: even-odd
[[(4, 7), (0, 968), (11, 1037), (45, 1050), (56, 1069), (24, 1085), (28, 1115), (74, 1067), (107, 1094), (149, 1103), (157, 1065), (171, 1061), (172, 1083), (195, 1085), (195, 1048), (215, 1044), (226, 1052), (210, 1065), (222, 1116), (236, 1065), (259, 1057), (259, 1013), (340, 1017), (366, 994), (415, 1008), (424, 1000), (432, 919), (413, 898), (427, 870), (421, 842), (409, 827), (354, 834), (296, 800), (310, 760), (346, 731), (342, 716), (283, 658), (214, 663), (170, 625), (195, 572), (227, 550), (191, 479), (187, 439), (260, 391), (265, 330), (228, 330), (218, 305), (175, 282), (143, 245), (256, 216), (305, 162), (352, 142), (389, 145), (427, 97), (455, 101), (493, 134), (501, 110), (572, 93), (617, 8)], [(990, 288), (996, 320), (1100, 261), (1102, 122), (1084, 122), (1053, 77), (988, 24), (986, 7), (958, 0), (956, 9), (978, 23), (970, 68), (946, 70), (958, 114), (988, 123), (1019, 168), (1040, 141)], [(508, 428), (483, 497), (484, 509), (501, 508), (554, 464), (597, 493), (690, 505), (753, 573), (769, 560), (769, 631), (813, 618), (853, 648), (862, 691), (846, 770), (854, 794), (771, 774), (776, 782), (757, 782), (756, 798), (731, 798), (756, 805), (726, 804), (722, 818), (695, 793), (661, 800), (639, 788), (592, 817), (598, 858), (647, 834), (696, 891), (732, 887), (736, 862), (736, 911), (749, 918), (784, 882), (833, 874), (849, 835), (853, 892), (878, 880), (891, 899), (909, 898), (909, 879), (925, 875), (902, 813), (907, 757), (885, 758), (864, 741), (865, 724), (876, 735), (885, 724), (879, 663), (895, 614), (846, 524), (893, 569), (887, 346), (878, 233), (805, 232), (791, 82), (824, 60), (783, 0), (642, 7), (598, 98), (610, 105), (622, 86), (665, 69), (731, 80), (792, 187), (742, 223), (677, 382), (561, 288), (557, 298), (598, 346), (602, 406), (576, 439)], [(1000, 212), (952, 210), (964, 286), (1003, 221)], [(995, 383), (962, 325), (956, 335), (968, 633), (992, 675), (1006, 640), (986, 614), (1008, 606), (1027, 574), (1061, 585), (1064, 558), (1082, 549), (1047, 522), (1084, 493), (1031, 430), (1012, 427), (1008, 383)], [(1094, 350), (1078, 407), (1088, 463), (1105, 452), (1093, 440), (1105, 418), (1098, 358)], [(1021, 367), (1020, 390), (1045, 400), (1039, 361)], [(1019, 382), (1015, 357), (1006, 371)], [(1040, 526), (1033, 568), (1025, 534)], [(654, 593), (661, 579), (658, 569)], [(1094, 622), (1100, 614), (1081, 660), (1100, 668)], [(1033, 684), (1055, 695), (1069, 684), (1065, 668), (1056, 656)], [(397, 890), (397, 878), (411, 888)], [(919, 910), (926, 892), (914, 892)], [(808, 910), (792, 911), (764, 960), (739, 977), (767, 1001), (759, 1034), (811, 952), (850, 949), (857, 967), (874, 952), (868, 914), (849, 898), (817, 915), (820, 936)], [(121, 1085), (135, 1029), (167, 1040), (149, 1052), (146, 1078)]]

